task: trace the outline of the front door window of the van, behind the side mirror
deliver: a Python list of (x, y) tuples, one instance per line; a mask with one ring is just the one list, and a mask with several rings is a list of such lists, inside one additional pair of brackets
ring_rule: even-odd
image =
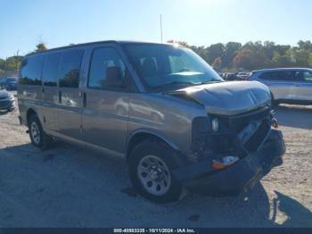
[(89, 71), (88, 88), (125, 90), (129, 74), (125, 63), (113, 48), (94, 49)]

